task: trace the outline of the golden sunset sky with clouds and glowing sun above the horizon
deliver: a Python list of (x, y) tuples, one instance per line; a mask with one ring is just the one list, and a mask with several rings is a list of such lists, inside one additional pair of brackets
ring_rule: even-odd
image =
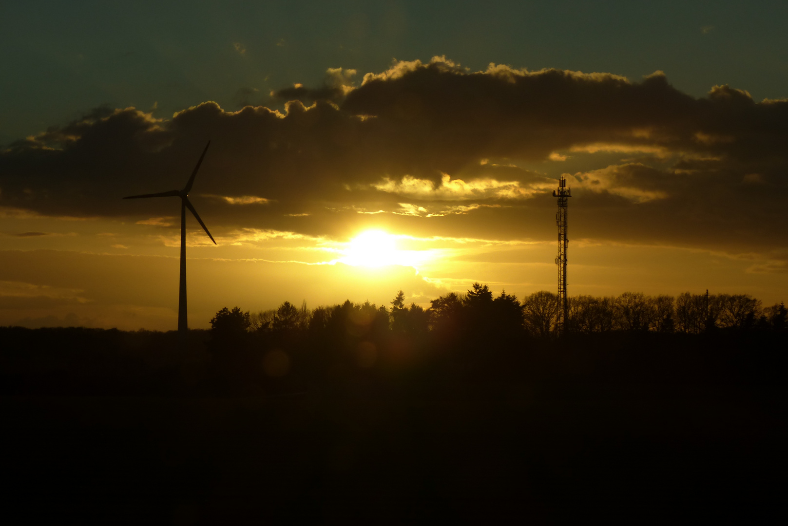
[(0, 2), (0, 324), (788, 300), (785, 2)]

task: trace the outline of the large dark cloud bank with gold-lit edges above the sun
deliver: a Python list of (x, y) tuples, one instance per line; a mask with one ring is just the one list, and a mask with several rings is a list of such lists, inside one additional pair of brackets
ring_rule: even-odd
[[(548, 188), (564, 165), (587, 159), (571, 170), (574, 239), (788, 257), (786, 100), (755, 102), (727, 86), (693, 98), (660, 72), (641, 82), (467, 72), (442, 58), (397, 63), (355, 88), (352, 74), (330, 70), (325, 87), (274, 94), (302, 99), (284, 113), (206, 102), (157, 120), (96, 109), (6, 146), (0, 205), (175, 215), (172, 203), (120, 198), (182, 187), (211, 139), (192, 195), (210, 196), (199, 209), (216, 228), (336, 235), (383, 210), (365, 217), (424, 235), (552, 239)], [(548, 173), (522, 168), (551, 158)]]

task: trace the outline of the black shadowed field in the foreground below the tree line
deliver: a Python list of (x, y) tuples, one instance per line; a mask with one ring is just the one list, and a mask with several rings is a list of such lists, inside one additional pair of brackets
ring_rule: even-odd
[(5, 524), (782, 515), (785, 332), (189, 337), (0, 328)]

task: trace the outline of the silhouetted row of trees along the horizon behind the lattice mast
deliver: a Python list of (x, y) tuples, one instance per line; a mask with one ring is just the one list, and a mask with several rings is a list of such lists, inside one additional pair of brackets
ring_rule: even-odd
[[(495, 295), (489, 286), (474, 283), (465, 294), (450, 292), (430, 301), (424, 309), (407, 305), (398, 291), (391, 306), (376, 306), (369, 301), (346, 301), (335, 306), (307, 308), (283, 302), (277, 309), (243, 312), (239, 307), (224, 308), (210, 320), (214, 333), (310, 332), (327, 335), (354, 327), (358, 331), (450, 334), (472, 330), (526, 332), (534, 337), (556, 334), (559, 298), (549, 291), (538, 291), (522, 301), (502, 291)], [(784, 331), (788, 309), (784, 303), (763, 307), (749, 294), (691, 294), (649, 296), (625, 292), (614, 296), (578, 295), (569, 298), (567, 330), (594, 332), (680, 332), (701, 333), (715, 328), (732, 330)], [(348, 329), (350, 328), (350, 329)], [(356, 331), (356, 332), (358, 332)]]

